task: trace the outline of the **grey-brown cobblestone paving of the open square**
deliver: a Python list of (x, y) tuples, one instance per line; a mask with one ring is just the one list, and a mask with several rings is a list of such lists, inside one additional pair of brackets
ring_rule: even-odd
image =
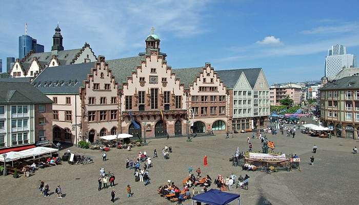
[[(296, 132), (295, 138), (284, 135), (267, 134), (275, 142), (275, 151), (286, 154), (297, 154), (301, 158), (301, 171), (278, 172), (266, 174), (260, 171), (242, 171), (232, 167), (229, 157), (237, 146), (241, 151), (248, 149), (247, 136), (251, 133), (235, 134), (226, 139), (225, 135), (195, 137), (186, 142), (185, 137), (170, 139), (149, 139), (148, 146), (136, 147), (132, 151), (112, 149), (107, 153), (106, 161), (102, 160), (98, 150), (85, 150), (71, 147), (73, 153), (88, 155), (94, 159), (90, 165), (62, 165), (38, 170), (25, 178), (14, 179), (12, 175), (0, 177), (0, 198), (2, 204), (110, 204), (111, 188), (97, 191), (99, 168), (106, 168), (115, 174), (115, 204), (173, 204), (157, 194), (157, 188), (174, 181), (181, 186), (188, 176), (188, 167), (202, 169), (202, 175), (209, 174), (212, 180), (217, 174), (229, 176), (233, 172), (250, 176), (249, 190), (234, 189), (233, 193), (241, 194), (242, 204), (357, 204), (359, 200), (358, 155), (352, 154), (352, 148), (359, 146), (358, 140), (332, 137), (318, 138)], [(258, 139), (250, 139), (253, 150), (260, 150)], [(313, 145), (318, 146), (315, 154)], [(163, 159), (162, 148), (172, 146), (170, 159)], [(134, 158), (139, 151), (146, 151), (152, 156), (157, 149), (158, 158), (152, 160), (154, 167), (149, 169), (151, 183), (144, 186), (135, 182), (133, 171), (125, 168), (125, 159)], [(61, 156), (65, 150), (61, 151)], [(203, 156), (208, 156), (208, 166), (203, 166)], [(314, 155), (315, 163), (308, 165), (309, 157)], [(142, 167), (142, 166), (141, 166)], [(41, 196), (37, 187), (44, 180), (50, 186), (50, 197)], [(131, 185), (133, 197), (127, 198), (126, 186)], [(64, 198), (57, 199), (54, 189), (61, 185)], [(212, 184), (211, 188), (215, 189)], [(191, 189), (192, 190), (192, 189)], [(190, 190), (190, 191), (191, 191)], [(270, 203), (267, 203), (267, 202)], [(187, 200), (183, 204), (192, 204)], [(235, 204), (235, 203), (231, 203)]]

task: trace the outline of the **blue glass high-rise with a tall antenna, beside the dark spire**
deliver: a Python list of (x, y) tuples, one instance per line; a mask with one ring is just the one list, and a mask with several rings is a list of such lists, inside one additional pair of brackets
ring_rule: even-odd
[(25, 24), (25, 35), (18, 37), (18, 58), (25, 57), (31, 50), (34, 53), (42, 53), (44, 46), (37, 44), (37, 40), (27, 34), (27, 24)]

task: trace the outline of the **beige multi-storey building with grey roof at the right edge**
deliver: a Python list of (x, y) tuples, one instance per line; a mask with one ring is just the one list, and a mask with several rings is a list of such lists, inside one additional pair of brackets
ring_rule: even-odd
[(359, 76), (349, 76), (320, 89), (321, 121), (334, 135), (358, 139)]

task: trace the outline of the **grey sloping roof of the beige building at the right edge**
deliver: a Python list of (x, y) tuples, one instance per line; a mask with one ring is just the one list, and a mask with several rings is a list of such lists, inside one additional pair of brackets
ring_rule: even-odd
[[(349, 86), (349, 83), (351, 86)], [(347, 89), (359, 89), (359, 76), (348, 76), (333, 81), (332, 83), (327, 84), (319, 90), (347, 90)]]

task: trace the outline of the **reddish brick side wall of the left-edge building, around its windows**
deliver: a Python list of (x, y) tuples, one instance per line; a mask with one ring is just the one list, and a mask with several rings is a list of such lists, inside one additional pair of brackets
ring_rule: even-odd
[[(39, 118), (45, 117), (45, 125), (39, 125)], [(35, 141), (38, 141), (38, 131), (45, 130), (45, 138), (52, 141), (52, 104), (45, 104), (45, 112), (38, 111), (38, 104), (35, 105)]]

